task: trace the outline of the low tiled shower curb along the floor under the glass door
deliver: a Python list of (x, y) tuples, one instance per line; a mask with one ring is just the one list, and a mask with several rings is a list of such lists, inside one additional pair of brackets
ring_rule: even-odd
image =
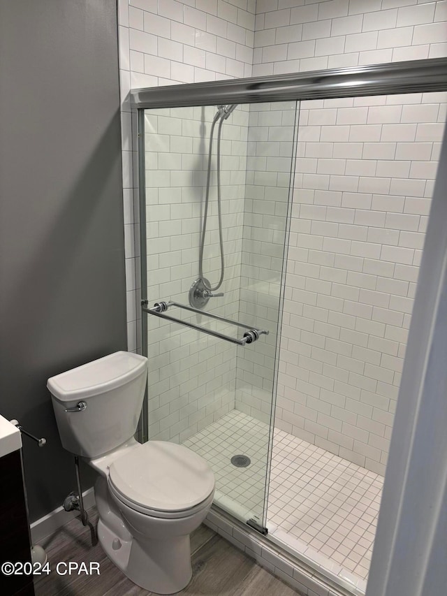
[(326, 570), (312, 569), (305, 561), (286, 553), (279, 544), (251, 530), (215, 504), (204, 523), (304, 596), (365, 596), (364, 590), (339, 576), (334, 575), (332, 579)]

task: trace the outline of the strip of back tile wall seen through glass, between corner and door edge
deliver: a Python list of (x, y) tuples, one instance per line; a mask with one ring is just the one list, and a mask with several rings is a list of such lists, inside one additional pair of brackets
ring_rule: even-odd
[[(236, 409), (270, 423), (274, 391), (279, 296), (286, 240), (296, 102), (250, 106), (244, 203), (240, 312), (247, 324), (269, 330), (237, 348)], [(267, 447), (267, 446), (266, 446)]]

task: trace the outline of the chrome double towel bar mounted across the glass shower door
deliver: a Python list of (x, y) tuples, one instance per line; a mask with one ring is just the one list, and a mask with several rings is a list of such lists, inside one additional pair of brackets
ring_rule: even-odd
[[(239, 323), (239, 321), (232, 321), (231, 319), (226, 319), (226, 317), (219, 317), (218, 314), (212, 314), (211, 312), (203, 312), (203, 310), (193, 308), (192, 306), (186, 306), (185, 304), (179, 304), (177, 302), (156, 302), (152, 308), (147, 308), (145, 304), (147, 304), (147, 300), (144, 300), (142, 302), (142, 311), (147, 312), (147, 314), (154, 314), (155, 317), (160, 317), (160, 319), (166, 319), (166, 321), (171, 321), (172, 323), (179, 323), (180, 325), (184, 325), (185, 327), (196, 329), (197, 331), (202, 331), (203, 333), (207, 333), (207, 335), (219, 337), (220, 340), (225, 340), (226, 342), (231, 342), (233, 344), (237, 344), (238, 346), (244, 346), (246, 344), (256, 342), (260, 335), (268, 335), (268, 330), (256, 329), (251, 325)], [(196, 314), (204, 314), (207, 317), (210, 317), (211, 319), (217, 319), (217, 321), (222, 321), (223, 323), (228, 323), (230, 325), (242, 327), (244, 329), (248, 329), (248, 331), (244, 333), (244, 337), (242, 337), (241, 339), (237, 339), (237, 337), (230, 337), (229, 335), (225, 335), (224, 333), (219, 333), (219, 331), (207, 329), (206, 327), (196, 325), (194, 323), (191, 323), (190, 321), (182, 321), (182, 319), (170, 317), (168, 314), (165, 314), (166, 310), (173, 306), (182, 308), (184, 310), (189, 310)]]

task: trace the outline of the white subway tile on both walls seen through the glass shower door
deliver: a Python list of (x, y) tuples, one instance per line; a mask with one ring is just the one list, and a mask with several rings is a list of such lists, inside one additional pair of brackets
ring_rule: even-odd
[[(153, 439), (182, 442), (235, 406), (270, 421), (295, 108), (295, 102), (258, 104), (250, 111), (249, 106), (238, 106), (221, 129), (226, 271), (219, 291), (225, 295), (211, 298), (206, 310), (270, 333), (236, 349), (149, 317), (149, 436)], [(191, 283), (198, 277), (215, 111), (212, 107), (146, 110), (149, 304), (168, 298), (186, 303)], [(220, 275), (216, 198), (214, 157), (204, 252), (204, 272), (213, 286)], [(175, 314), (182, 317), (181, 310)], [(194, 316), (193, 321), (205, 326), (214, 323), (206, 316)], [(218, 328), (235, 333), (235, 328), (221, 324)], [(236, 333), (242, 337), (243, 330)]]

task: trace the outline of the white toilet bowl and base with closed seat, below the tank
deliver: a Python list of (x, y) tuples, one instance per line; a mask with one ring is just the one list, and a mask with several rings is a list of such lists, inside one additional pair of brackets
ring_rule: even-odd
[(182, 590), (192, 575), (189, 535), (214, 495), (205, 460), (182, 445), (149, 441), (87, 461), (101, 474), (95, 498), (105, 553), (142, 588), (159, 594)]

